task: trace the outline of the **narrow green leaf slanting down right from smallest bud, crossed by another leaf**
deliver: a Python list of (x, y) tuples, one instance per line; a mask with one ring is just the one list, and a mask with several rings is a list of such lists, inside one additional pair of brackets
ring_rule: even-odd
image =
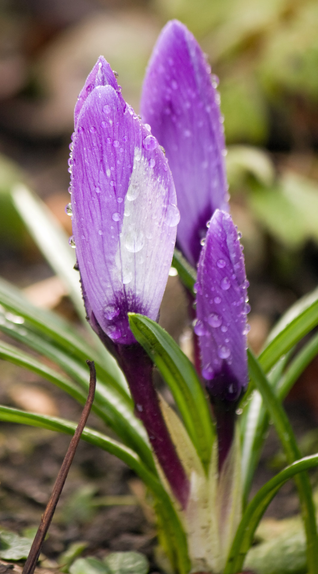
[[(288, 463), (300, 459), (301, 454), (297, 447), (296, 439), (290, 426), (285, 410), (280, 400), (274, 394), (272, 387), (267, 381), (260, 363), (248, 352), (249, 372), (258, 391), (260, 391), (265, 406), (268, 409), (270, 418), (274, 423), (276, 432), (284, 448)], [(315, 505), (312, 499), (312, 488), (308, 475), (301, 473), (295, 477), (296, 486), (299, 492), (301, 514), (304, 521), (305, 533), (307, 537), (307, 561), (308, 572), (311, 574), (318, 573), (318, 537), (316, 528)]]

